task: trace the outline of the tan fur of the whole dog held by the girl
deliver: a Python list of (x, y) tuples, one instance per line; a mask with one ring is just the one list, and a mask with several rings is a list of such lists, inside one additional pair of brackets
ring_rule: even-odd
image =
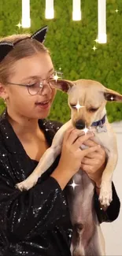
[[(68, 93), (68, 106), (71, 109), (71, 120), (62, 125), (54, 135), (52, 146), (48, 148), (39, 161), (39, 165), (27, 180), (17, 184), (21, 191), (33, 187), (39, 177), (52, 165), (58, 154), (61, 153), (63, 136), (70, 124), (76, 127), (77, 121), (83, 121), (87, 128), (93, 128), (92, 123), (99, 121), (105, 115), (107, 100), (122, 102), (122, 95), (116, 91), (105, 88), (102, 83), (93, 80), (57, 80), (57, 89)], [(113, 96), (113, 100), (111, 97)], [(79, 111), (74, 108), (79, 100), (83, 106)], [(93, 109), (97, 109), (92, 111)], [(103, 206), (109, 206), (112, 201), (113, 170), (117, 161), (116, 135), (110, 126), (107, 117), (105, 124), (107, 131), (98, 133), (94, 129), (94, 141), (105, 148), (107, 164), (102, 174), (100, 202)], [(72, 177), (79, 184), (75, 191), (68, 191), (68, 206), (73, 225), (71, 252), (73, 256), (102, 256), (105, 255), (105, 243), (98, 218), (94, 210), (94, 184), (81, 170)]]

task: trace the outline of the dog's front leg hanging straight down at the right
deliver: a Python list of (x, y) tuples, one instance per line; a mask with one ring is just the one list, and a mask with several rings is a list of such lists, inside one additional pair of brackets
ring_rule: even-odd
[(117, 162), (117, 150), (111, 151), (108, 154), (108, 162), (105, 167), (104, 172), (102, 173), (102, 184), (99, 195), (99, 200), (103, 206), (109, 206), (110, 202), (113, 200), (112, 195), (112, 180), (113, 180), (113, 171), (116, 168)]

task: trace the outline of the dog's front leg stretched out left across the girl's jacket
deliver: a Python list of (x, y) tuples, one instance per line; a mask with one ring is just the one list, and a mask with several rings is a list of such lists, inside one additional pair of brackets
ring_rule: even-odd
[(33, 173), (31, 173), (26, 180), (16, 184), (15, 187), (20, 189), (20, 191), (29, 190), (37, 183), (39, 177), (46, 171), (46, 169), (50, 167), (50, 165), (53, 164), (55, 158), (57, 158), (57, 155), (61, 153), (64, 133), (71, 124), (72, 121), (69, 120), (66, 124), (61, 126), (61, 128), (54, 135), (51, 147), (49, 147), (43, 154), (43, 157), (40, 159), (39, 164), (36, 166)]

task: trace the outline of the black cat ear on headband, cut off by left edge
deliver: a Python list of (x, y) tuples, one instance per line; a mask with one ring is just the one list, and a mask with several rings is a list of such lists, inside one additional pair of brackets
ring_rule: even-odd
[(13, 43), (9, 42), (0, 42), (0, 61), (9, 54), (9, 51), (13, 50)]

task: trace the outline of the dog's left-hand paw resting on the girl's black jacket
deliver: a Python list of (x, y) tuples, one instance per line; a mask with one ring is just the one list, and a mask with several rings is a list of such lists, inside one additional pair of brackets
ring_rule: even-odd
[(26, 179), (26, 180), (24, 180), (20, 183), (17, 183), (15, 185), (15, 187), (17, 189), (19, 189), (20, 191), (28, 191), (31, 187), (35, 186), (35, 184), (37, 183), (37, 180), (38, 179), (36, 177), (35, 177), (35, 179), (34, 179), (34, 177), (33, 178), (30, 177), (30, 178), (28, 178), (28, 179)]

